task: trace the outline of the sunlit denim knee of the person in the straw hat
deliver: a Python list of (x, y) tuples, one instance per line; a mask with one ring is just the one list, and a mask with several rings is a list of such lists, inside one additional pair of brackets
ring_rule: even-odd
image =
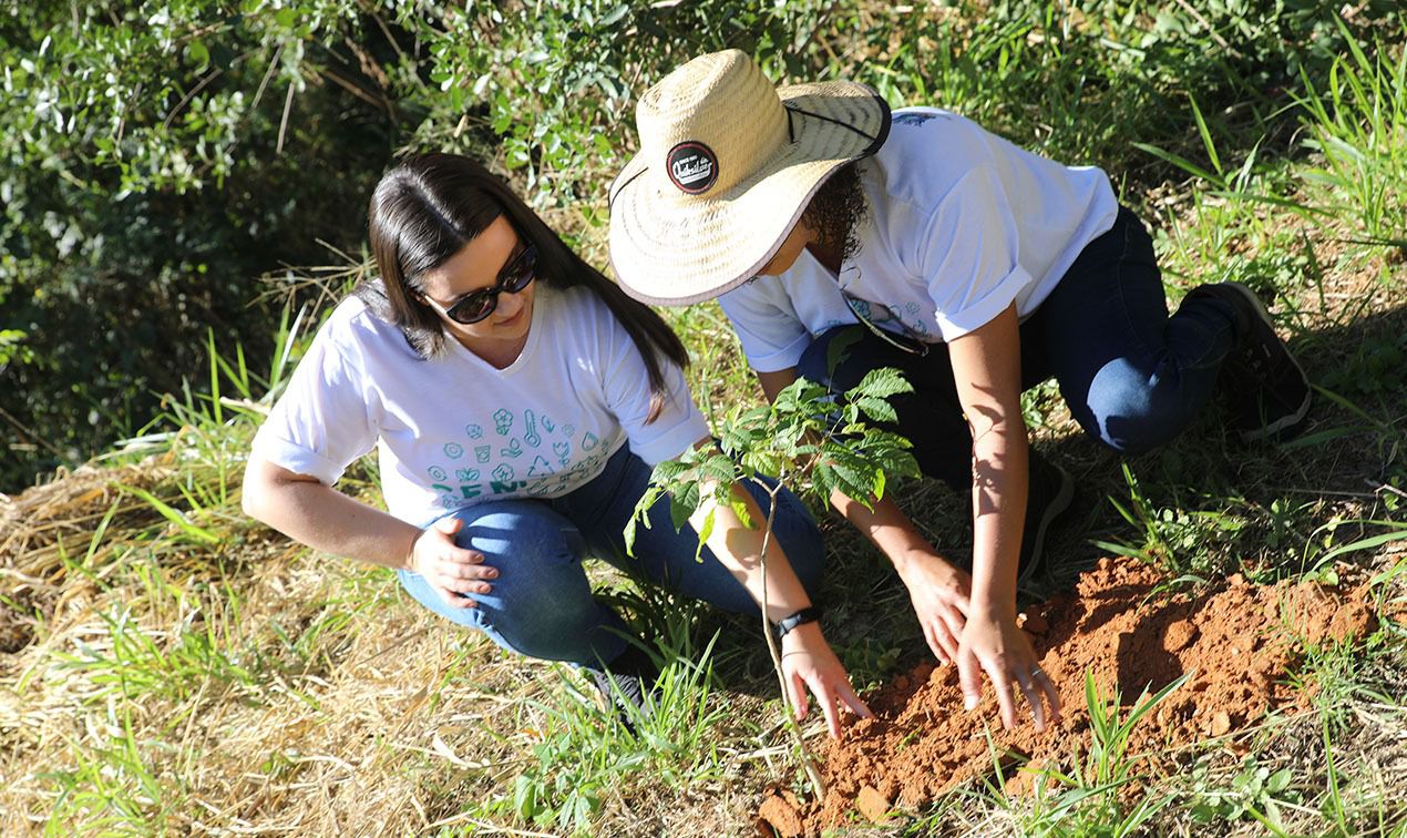
[[(1079, 401), (1069, 399), (1074, 407)], [(1182, 393), (1175, 369), (1152, 372), (1116, 358), (1089, 384), (1075, 418), (1092, 437), (1120, 454), (1137, 455), (1171, 442), (1192, 421), (1196, 404)]]

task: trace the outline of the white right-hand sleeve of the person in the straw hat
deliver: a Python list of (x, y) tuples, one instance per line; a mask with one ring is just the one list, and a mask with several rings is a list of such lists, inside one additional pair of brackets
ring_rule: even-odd
[(1019, 258), (1016, 218), (995, 172), (968, 172), (943, 197), (917, 246), (944, 341), (985, 325), (1031, 283)]

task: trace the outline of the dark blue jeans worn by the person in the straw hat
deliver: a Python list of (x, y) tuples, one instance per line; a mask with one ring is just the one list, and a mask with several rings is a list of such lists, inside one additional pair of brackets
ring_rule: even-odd
[[(1152, 239), (1120, 208), (1113, 228), (1089, 242), (1055, 290), (1020, 327), (1021, 389), (1054, 377), (1086, 434), (1123, 454), (1141, 454), (1180, 434), (1211, 397), (1221, 361), (1235, 346), (1235, 313), (1214, 297), (1188, 297), (1172, 317)], [(861, 338), (834, 372), (830, 341)], [(877, 368), (900, 369), (915, 392), (893, 399), (886, 425), (913, 442), (919, 468), (960, 492), (972, 486), (972, 437), (948, 346), (906, 354), (861, 325), (816, 337), (798, 372), (844, 392)]]

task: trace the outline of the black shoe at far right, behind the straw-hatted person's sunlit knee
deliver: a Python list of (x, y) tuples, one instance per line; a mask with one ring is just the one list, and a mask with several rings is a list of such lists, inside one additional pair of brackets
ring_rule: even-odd
[(1235, 311), (1241, 344), (1221, 365), (1221, 396), (1241, 442), (1287, 439), (1310, 411), (1310, 379), (1275, 334), (1275, 321), (1255, 292), (1240, 282), (1218, 282), (1188, 296), (1210, 296)]

